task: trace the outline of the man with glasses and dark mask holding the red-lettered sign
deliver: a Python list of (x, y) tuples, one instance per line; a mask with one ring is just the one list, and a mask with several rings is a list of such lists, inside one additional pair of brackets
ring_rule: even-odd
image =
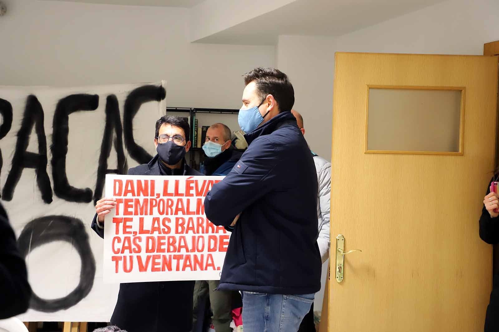
[[(185, 161), (191, 147), (189, 123), (165, 115), (156, 121), (154, 145), (158, 154), (148, 163), (128, 170), (129, 175), (203, 175)], [(104, 216), (116, 199), (97, 201), (91, 227), (104, 238)], [(123, 283), (111, 317), (112, 325), (128, 332), (188, 332), (192, 328), (194, 281)]]

